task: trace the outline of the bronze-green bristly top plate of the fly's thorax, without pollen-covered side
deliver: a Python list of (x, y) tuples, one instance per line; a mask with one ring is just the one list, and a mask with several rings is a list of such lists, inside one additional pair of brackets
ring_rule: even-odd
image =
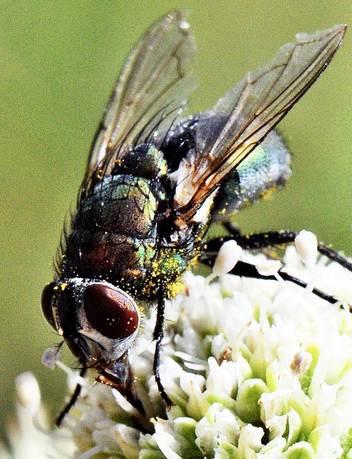
[[(146, 157), (149, 166), (152, 159)], [(136, 162), (146, 175), (147, 166)], [(123, 164), (124, 172), (133, 169)], [(102, 279), (113, 279), (127, 269), (143, 271), (155, 256), (158, 212), (165, 199), (157, 176), (105, 177), (80, 203), (67, 243), (65, 275), (99, 273)]]

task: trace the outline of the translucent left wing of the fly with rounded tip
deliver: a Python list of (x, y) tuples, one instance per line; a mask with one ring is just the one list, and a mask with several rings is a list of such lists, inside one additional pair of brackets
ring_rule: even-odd
[[(125, 64), (91, 148), (82, 196), (129, 148), (165, 131), (194, 87), (195, 46), (176, 11), (150, 28)], [(165, 127), (166, 126), (166, 127)]]

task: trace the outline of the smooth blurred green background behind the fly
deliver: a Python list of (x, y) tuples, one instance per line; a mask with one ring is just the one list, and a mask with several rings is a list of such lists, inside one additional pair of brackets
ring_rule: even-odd
[[(113, 83), (148, 25), (174, 8), (188, 12), (198, 49), (190, 112), (210, 108), (296, 32), (352, 27), (350, 0), (1, 2), (2, 424), (14, 410), (14, 379), (22, 371), (37, 375), (51, 413), (60, 409), (65, 376), (40, 360), (59, 342), (41, 315), (41, 289), (52, 278), (62, 222)], [(280, 124), (293, 176), (271, 200), (236, 216), (244, 231), (306, 228), (352, 255), (351, 50), (349, 32), (329, 69)]]

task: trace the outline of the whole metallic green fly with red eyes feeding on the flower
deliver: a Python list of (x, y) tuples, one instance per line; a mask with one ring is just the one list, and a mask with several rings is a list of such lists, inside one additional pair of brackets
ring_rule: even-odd
[[(289, 152), (272, 129), (326, 68), (344, 32), (337, 25), (297, 35), (213, 109), (184, 119), (194, 43), (182, 14), (154, 25), (129, 57), (96, 133), (42, 310), (82, 374), (97, 371), (140, 413), (128, 355), (142, 331), (141, 308), (157, 304), (154, 373), (170, 405), (159, 376), (165, 300), (182, 288), (192, 263), (214, 262), (221, 240), (205, 247), (213, 219), (228, 218), (289, 177)], [(244, 238), (228, 228), (248, 248), (293, 238)], [(251, 265), (237, 266), (240, 275), (260, 276)]]

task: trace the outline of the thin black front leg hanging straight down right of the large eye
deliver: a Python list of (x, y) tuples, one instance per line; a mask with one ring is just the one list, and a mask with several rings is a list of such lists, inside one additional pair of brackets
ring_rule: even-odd
[(158, 305), (157, 305), (157, 320), (155, 323), (155, 328), (153, 332), (153, 339), (155, 340), (155, 354), (154, 354), (154, 376), (160, 392), (160, 395), (164, 402), (166, 403), (167, 409), (169, 410), (173, 405), (172, 401), (168, 397), (165, 389), (162, 385), (159, 373), (160, 365), (160, 352), (161, 352), (161, 342), (164, 338), (164, 321), (165, 321), (165, 289), (163, 287), (159, 288), (158, 294)]

